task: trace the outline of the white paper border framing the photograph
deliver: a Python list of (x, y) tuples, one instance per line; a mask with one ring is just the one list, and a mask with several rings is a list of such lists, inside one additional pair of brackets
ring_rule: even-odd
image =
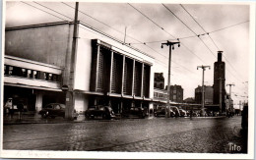
[[(15, 1), (15, 0), (10, 0)], [(44, 1), (44, 0), (36, 0)], [(58, 2), (61, 0), (55, 0)], [(62, 0), (67, 1), (67, 0)], [(80, 2), (82, 2), (80, 0)], [(127, 3), (127, 0), (109, 1), (109, 0), (87, 0), (83, 2), (114, 2)], [(214, 4), (216, 2), (197, 0), (160, 0), (160, 1), (138, 1), (130, 0), (129, 3), (184, 3), (184, 4)], [(24, 151), (24, 150), (3, 150), (1, 146), (0, 157), (4, 158), (103, 158), (103, 159), (253, 159), (254, 158), (254, 106), (255, 106), (255, 4), (254, 0), (250, 1), (221, 1), (217, 0), (216, 4), (238, 4), (250, 5), (250, 74), (249, 74), (249, 127), (248, 127), (248, 154), (212, 154), (212, 153), (148, 153), (148, 152), (88, 152), (88, 151)], [(4, 65), (4, 37), (5, 37), (5, 11), (6, 0), (2, 1), (2, 57), (1, 73)], [(1, 95), (3, 95), (3, 77), (1, 79)], [(1, 99), (3, 106), (3, 99)], [(0, 111), (1, 112), (1, 111)], [(1, 135), (3, 134), (3, 113), (1, 112)], [(1, 136), (1, 142), (3, 136)]]

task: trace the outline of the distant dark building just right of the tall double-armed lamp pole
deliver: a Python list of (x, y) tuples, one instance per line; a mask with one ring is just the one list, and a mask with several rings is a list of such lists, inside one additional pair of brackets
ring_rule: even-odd
[[(165, 89), (167, 90), (167, 85)], [(181, 85), (170, 85), (169, 99), (173, 102), (183, 102), (183, 88)]]

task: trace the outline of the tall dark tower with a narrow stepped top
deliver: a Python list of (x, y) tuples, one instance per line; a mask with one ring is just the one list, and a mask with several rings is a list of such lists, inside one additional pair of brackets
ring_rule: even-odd
[[(221, 104), (220, 111), (225, 111), (224, 94), (225, 94), (225, 65), (222, 61), (223, 51), (218, 51), (218, 61), (215, 62), (214, 71), (214, 104)], [(220, 95), (222, 94), (222, 99)]]

